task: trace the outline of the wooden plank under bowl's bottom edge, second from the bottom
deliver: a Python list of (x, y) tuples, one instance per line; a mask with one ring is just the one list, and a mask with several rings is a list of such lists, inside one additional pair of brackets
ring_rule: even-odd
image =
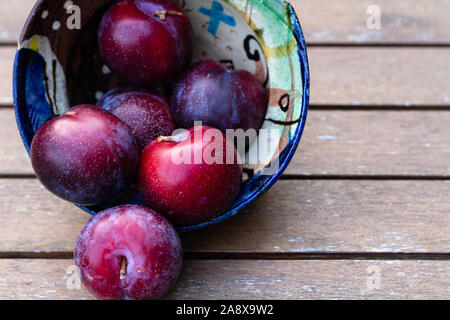
[[(279, 181), (232, 219), (183, 234), (183, 246), (194, 252), (450, 252), (449, 196), (450, 181)], [(34, 179), (0, 179), (0, 204), (4, 253), (71, 252), (90, 217)]]

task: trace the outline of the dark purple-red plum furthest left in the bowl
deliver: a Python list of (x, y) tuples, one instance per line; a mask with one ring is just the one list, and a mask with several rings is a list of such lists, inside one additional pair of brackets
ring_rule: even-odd
[(119, 118), (80, 105), (38, 130), (31, 162), (39, 181), (58, 197), (96, 205), (114, 201), (135, 181), (139, 149)]

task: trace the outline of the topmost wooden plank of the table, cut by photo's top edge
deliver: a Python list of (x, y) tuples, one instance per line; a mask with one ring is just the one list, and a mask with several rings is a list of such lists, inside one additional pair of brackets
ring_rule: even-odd
[[(0, 43), (16, 42), (35, 0), (0, 2)], [(440, 0), (292, 0), (309, 43), (450, 43), (450, 5)], [(367, 8), (381, 29), (367, 28)]]

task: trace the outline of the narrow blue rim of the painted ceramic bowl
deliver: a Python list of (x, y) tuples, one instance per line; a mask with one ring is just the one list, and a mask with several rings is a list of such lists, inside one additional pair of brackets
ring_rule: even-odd
[[(278, 156), (278, 158), (281, 158), (281, 156), (284, 157), (283, 162), (280, 166), (280, 168), (277, 170), (277, 172), (270, 176), (268, 180), (266, 180), (264, 183), (261, 184), (256, 190), (254, 190), (250, 197), (246, 198), (244, 201), (242, 201), (237, 207), (234, 207), (231, 210), (228, 210), (224, 214), (220, 215), (219, 217), (216, 217), (214, 219), (211, 219), (209, 221), (192, 225), (192, 226), (180, 226), (176, 227), (176, 229), (179, 232), (186, 232), (186, 231), (193, 231), (198, 229), (203, 229), (205, 227), (209, 227), (218, 223), (221, 223), (232, 216), (236, 215), (238, 212), (240, 212), (242, 209), (246, 208), (248, 205), (256, 201), (258, 198), (263, 196), (274, 184), (279, 180), (281, 175), (284, 173), (286, 168), (288, 167), (290, 161), (292, 160), (292, 157), (294, 156), (295, 152), (298, 149), (300, 140), (303, 135), (303, 131), (306, 125), (307, 115), (308, 115), (308, 107), (309, 107), (309, 99), (310, 99), (310, 71), (309, 71), (309, 61), (308, 61), (308, 54), (307, 54), (307, 48), (306, 48), (306, 41), (303, 35), (303, 31), (301, 28), (301, 24), (299, 21), (299, 18), (297, 16), (297, 13), (295, 12), (295, 9), (293, 8), (292, 4), (284, 1), (287, 4), (287, 8), (289, 9), (289, 15), (292, 22), (293, 27), (293, 34), (297, 41), (297, 52), (300, 59), (300, 68), (302, 71), (302, 86), (303, 86), (303, 96), (302, 96), (302, 106), (301, 106), (301, 114), (299, 118), (299, 124), (297, 125), (294, 139), (291, 140), (287, 147), (281, 152), (281, 154)], [(26, 20), (26, 23), (24, 25), (24, 28), (22, 30), (22, 33), (19, 38), (19, 44), (24, 40), (23, 36), (29, 26), (29, 23), (34, 18), (36, 12), (42, 5), (42, 0), (38, 0), (36, 4), (34, 5), (33, 9), (31, 10), (31, 13), (29, 17)], [(19, 52), (21, 48), (19, 46), (15, 59), (14, 59), (14, 67), (13, 67), (13, 98), (14, 98), (14, 112), (16, 117), (17, 126), (22, 138), (22, 142), (28, 152), (28, 155), (30, 155), (30, 146), (27, 145), (27, 137), (24, 132), (23, 124), (20, 121), (19, 116), (19, 99), (20, 99), (20, 90), (19, 90), (19, 81), (20, 81), (20, 74), (19, 74)], [(74, 204), (76, 207), (82, 209), (83, 211), (89, 213), (90, 215), (94, 216), (97, 214), (97, 212), (91, 210), (88, 207)]]

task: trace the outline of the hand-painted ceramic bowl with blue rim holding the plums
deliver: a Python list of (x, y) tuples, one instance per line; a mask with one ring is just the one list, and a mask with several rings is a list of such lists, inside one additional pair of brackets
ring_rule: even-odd
[[(93, 103), (120, 85), (102, 60), (97, 27), (111, 0), (39, 0), (25, 24), (14, 65), (14, 105), (27, 151), (35, 132), (71, 106)], [(187, 231), (221, 222), (264, 194), (299, 144), (309, 102), (306, 46), (292, 6), (281, 0), (179, 0), (191, 19), (193, 61), (213, 58), (254, 73), (269, 92), (263, 129), (270, 134), (230, 210)], [(269, 138), (268, 138), (269, 137)], [(264, 143), (263, 143), (264, 144)], [(254, 143), (248, 153), (257, 151)], [(219, 192), (219, 190), (218, 190)], [(125, 202), (141, 203), (139, 195)], [(90, 214), (102, 206), (82, 207)]]

